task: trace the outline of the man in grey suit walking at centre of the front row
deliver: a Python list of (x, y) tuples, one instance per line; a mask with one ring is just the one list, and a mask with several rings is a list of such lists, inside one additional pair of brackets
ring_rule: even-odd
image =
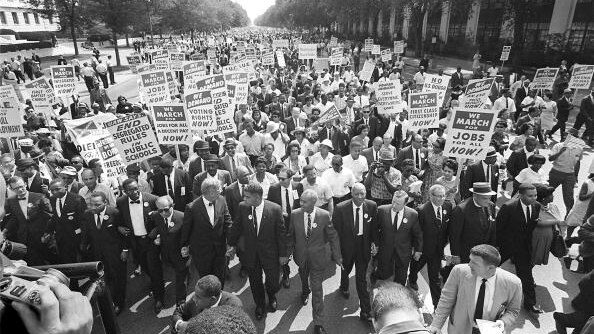
[(324, 272), (330, 264), (330, 254), (326, 244), (330, 242), (331, 258), (342, 266), (340, 241), (330, 220), (330, 214), (317, 208), (318, 195), (313, 189), (301, 194), (301, 208), (291, 212), (291, 222), (287, 231), (287, 254), (293, 255), (299, 266), (301, 278), (301, 301), (307, 305), (309, 301), (310, 283), (314, 334), (324, 334), (324, 291), (322, 282)]

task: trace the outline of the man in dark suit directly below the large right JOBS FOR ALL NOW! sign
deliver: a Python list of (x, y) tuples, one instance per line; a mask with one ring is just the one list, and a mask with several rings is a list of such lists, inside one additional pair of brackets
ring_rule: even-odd
[[(460, 184), (460, 194), (462, 199), (472, 196), (468, 190), (475, 182), (488, 182), (491, 189), (497, 190), (499, 186), (499, 165), (497, 164), (497, 151), (495, 147), (489, 146), (487, 156), (483, 161), (470, 164), (464, 172), (464, 177)], [(491, 202), (497, 202), (497, 195), (491, 197)]]

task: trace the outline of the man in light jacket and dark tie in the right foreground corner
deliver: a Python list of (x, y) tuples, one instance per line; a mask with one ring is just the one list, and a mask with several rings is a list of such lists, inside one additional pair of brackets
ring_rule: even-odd
[(520, 312), (522, 284), (516, 275), (498, 268), (500, 262), (501, 256), (495, 247), (473, 247), (470, 263), (452, 269), (429, 331), (439, 333), (450, 317), (449, 334), (480, 333), (476, 319), (494, 321), (509, 332)]

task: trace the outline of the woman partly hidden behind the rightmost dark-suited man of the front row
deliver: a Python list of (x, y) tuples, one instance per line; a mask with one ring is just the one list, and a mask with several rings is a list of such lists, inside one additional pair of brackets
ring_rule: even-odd
[(553, 242), (553, 229), (563, 222), (559, 208), (553, 203), (555, 188), (536, 184), (536, 200), (541, 204), (538, 222), (532, 232), (532, 263), (546, 265)]

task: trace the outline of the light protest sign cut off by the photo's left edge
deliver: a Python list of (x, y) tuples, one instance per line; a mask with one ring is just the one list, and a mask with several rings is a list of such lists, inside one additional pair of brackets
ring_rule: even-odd
[(7, 139), (24, 136), (23, 113), (12, 85), (0, 86), (0, 101), (0, 136)]

